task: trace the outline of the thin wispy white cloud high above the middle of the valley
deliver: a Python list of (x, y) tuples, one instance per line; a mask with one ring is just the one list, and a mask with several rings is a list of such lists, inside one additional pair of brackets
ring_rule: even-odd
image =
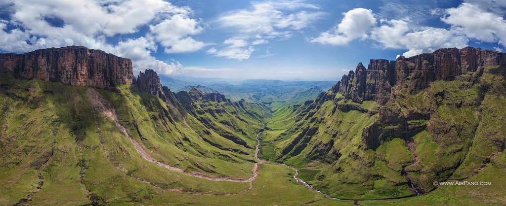
[(234, 36), (222, 45), (207, 50), (217, 57), (248, 59), (259, 44), (268, 39), (290, 38), (293, 32), (308, 27), (324, 13), (304, 1), (255, 2), (252, 8), (236, 10), (217, 19), (220, 27), (232, 30)]

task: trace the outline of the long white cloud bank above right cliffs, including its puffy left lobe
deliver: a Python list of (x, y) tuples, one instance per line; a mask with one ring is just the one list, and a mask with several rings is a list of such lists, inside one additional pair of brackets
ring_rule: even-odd
[(467, 46), (469, 38), (451, 28), (421, 27), (404, 19), (381, 19), (368, 9), (357, 8), (343, 13), (344, 18), (333, 30), (322, 32), (312, 42), (345, 45), (356, 39), (372, 39), (380, 48), (406, 49), (403, 56), (411, 57), (433, 52), (438, 48)]

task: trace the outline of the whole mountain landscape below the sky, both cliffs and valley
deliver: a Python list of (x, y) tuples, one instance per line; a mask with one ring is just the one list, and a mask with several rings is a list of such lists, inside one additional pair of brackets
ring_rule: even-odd
[(503, 204), (505, 68), (443, 48), (183, 86), (82, 46), (0, 54), (0, 204)]

